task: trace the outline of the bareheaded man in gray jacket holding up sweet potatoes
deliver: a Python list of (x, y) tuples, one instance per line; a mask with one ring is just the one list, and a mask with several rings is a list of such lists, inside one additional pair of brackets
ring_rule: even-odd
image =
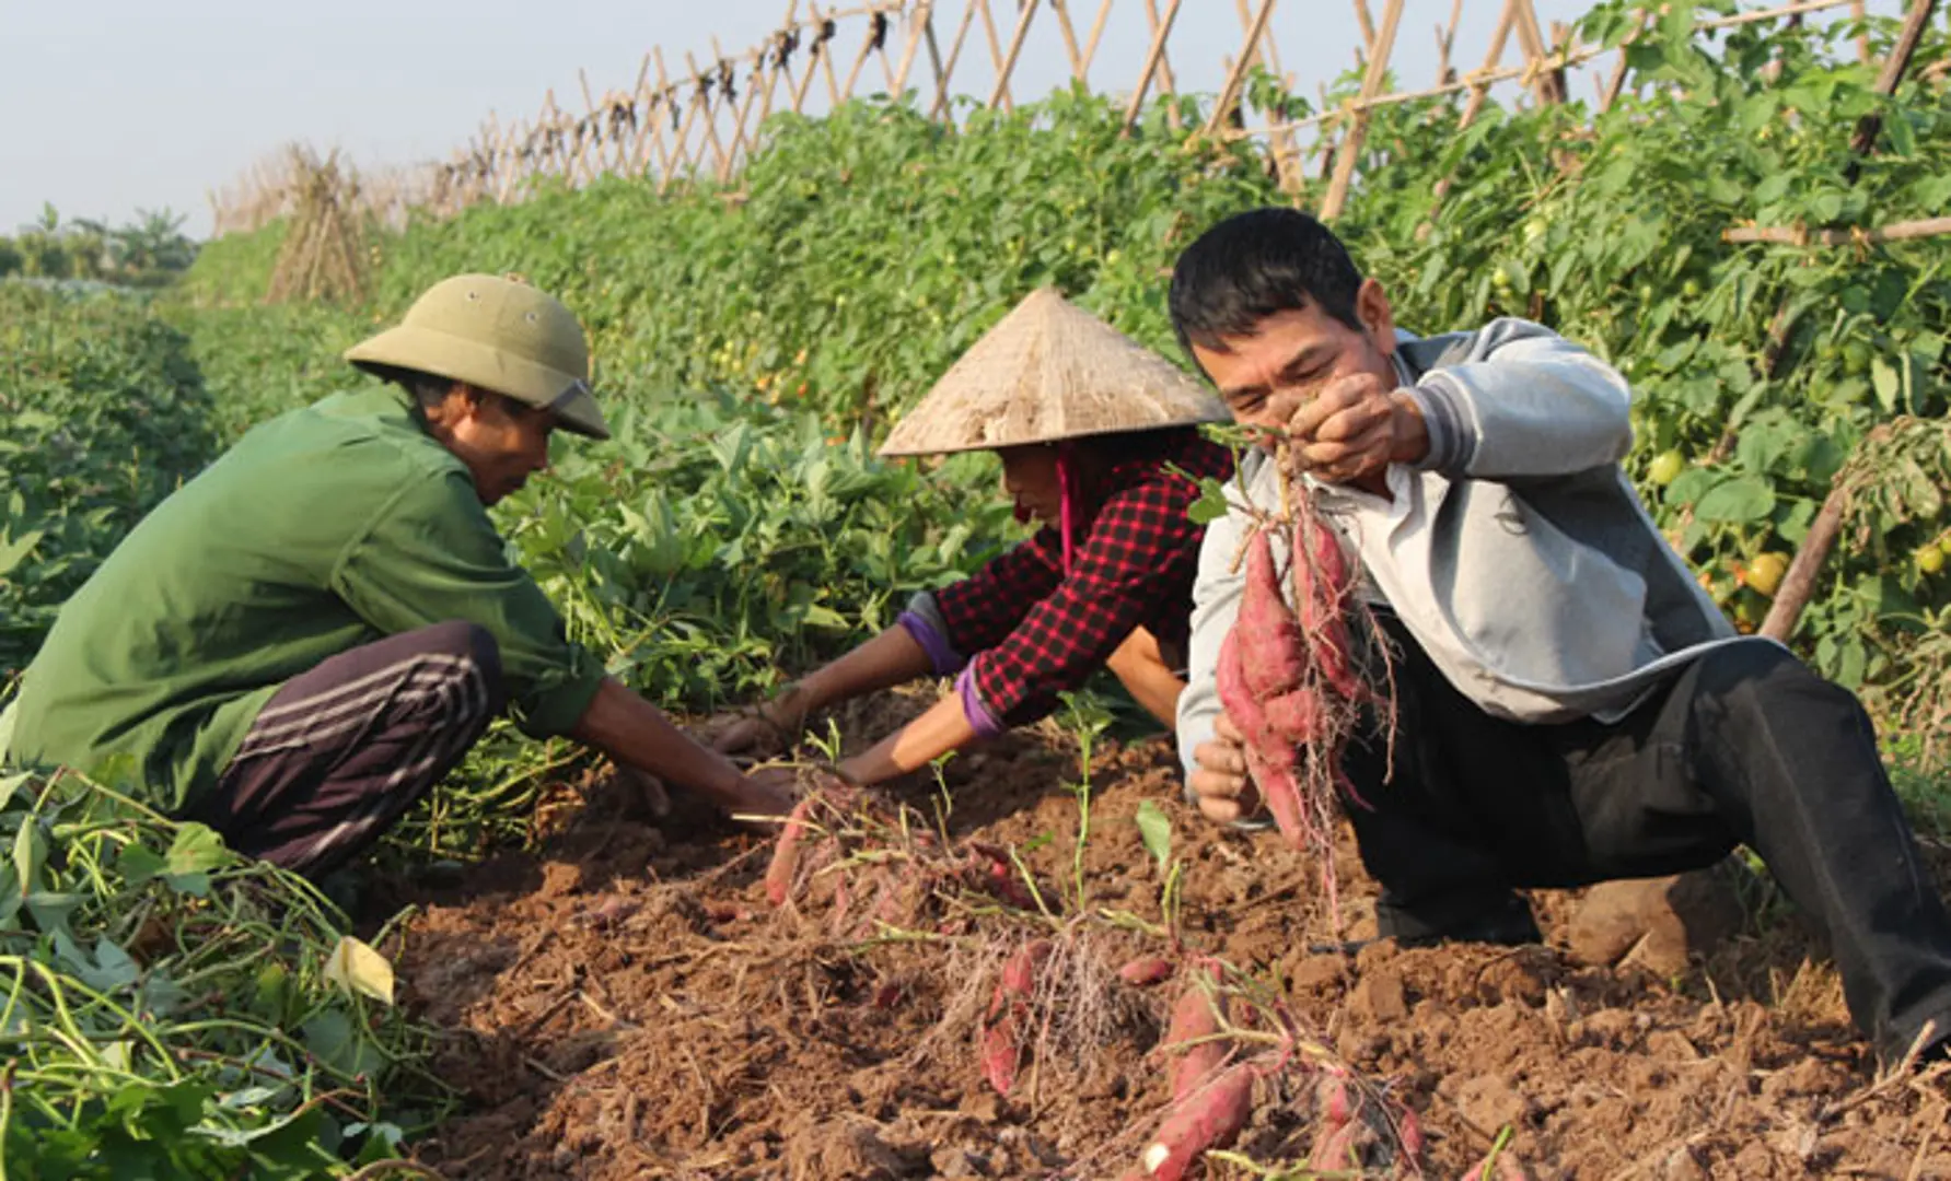
[[(1520, 889), (1746, 844), (1828, 933), (1879, 1054), (1947, 1052), (1951, 918), (1869, 717), (1701, 592), (1619, 468), (1612, 366), (1522, 320), (1401, 333), (1381, 285), (1286, 209), (1194, 242), (1171, 312), (1233, 417), (1288, 437), (1389, 641), (1393, 778), (1375, 719), (1342, 764), (1383, 935), (1532, 941)], [(1254, 448), (1229, 493), (1272, 507), (1280, 479)], [(1188, 793), (1219, 822), (1258, 811), (1214, 678), (1247, 524), (1208, 526), (1178, 704)]]

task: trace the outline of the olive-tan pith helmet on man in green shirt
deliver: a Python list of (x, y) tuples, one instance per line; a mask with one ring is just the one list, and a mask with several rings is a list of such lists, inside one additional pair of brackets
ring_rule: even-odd
[(552, 296), (494, 275), (427, 288), (398, 327), (345, 351), (367, 372), (410, 368), (554, 411), (564, 431), (609, 438), (589, 392), (589, 341)]

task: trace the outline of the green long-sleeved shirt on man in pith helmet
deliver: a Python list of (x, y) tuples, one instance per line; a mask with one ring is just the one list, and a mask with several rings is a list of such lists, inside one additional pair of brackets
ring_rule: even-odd
[(181, 813), (285, 680), (447, 620), (496, 637), (529, 735), (566, 733), (603, 680), (412, 400), (338, 394), (250, 431), (62, 604), (21, 676), (10, 762), (127, 754), (148, 801)]

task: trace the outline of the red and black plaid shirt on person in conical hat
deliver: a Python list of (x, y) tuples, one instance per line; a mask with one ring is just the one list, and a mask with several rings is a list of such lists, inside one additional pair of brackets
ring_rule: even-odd
[(1196, 477), (1233, 477), (1233, 454), (1194, 427), (1130, 435), (1114, 446), (1110, 470), (1077, 489), (1069, 577), (1063, 538), (1046, 526), (935, 592), (946, 639), (977, 653), (976, 690), (1005, 725), (1048, 715), (1057, 694), (1079, 688), (1134, 628), (1184, 651), (1206, 534), (1186, 509), (1200, 497)]

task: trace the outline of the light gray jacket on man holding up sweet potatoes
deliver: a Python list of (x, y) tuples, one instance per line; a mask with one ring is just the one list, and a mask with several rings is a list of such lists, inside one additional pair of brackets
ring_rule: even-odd
[[(1389, 468), (1389, 499), (1321, 483), (1317, 505), (1360, 557), (1364, 594), (1487, 713), (1615, 721), (1703, 651), (1772, 643), (1734, 633), (1639, 503), (1619, 468), (1633, 431), (1617, 370), (1524, 320), (1399, 333), (1395, 370), (1422, 409), (1428, 456)], [(1272, 456), (1249, 452), (1227, 493), (1278, 505)], [(1239, 612), (1233, 563), (1249, 524), (1235, 509), (1200, 548), (1178, 700), (1188, 774), (1219, 715), (1214, 670)]]

